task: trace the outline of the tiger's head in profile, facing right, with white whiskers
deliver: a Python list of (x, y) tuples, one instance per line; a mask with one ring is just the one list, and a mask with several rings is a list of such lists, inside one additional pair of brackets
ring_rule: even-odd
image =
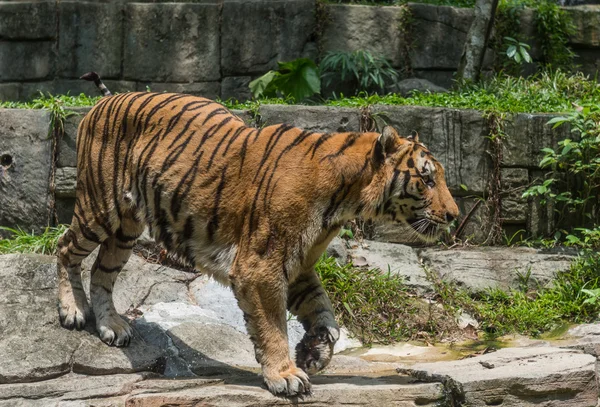
[(400, 137), (393, 127), (384, 127), (373, 148), (373, 166), (374, 218), (408, 224), (413, 238), (432, 242), (458, 217), (444, 168), (418, 136)]

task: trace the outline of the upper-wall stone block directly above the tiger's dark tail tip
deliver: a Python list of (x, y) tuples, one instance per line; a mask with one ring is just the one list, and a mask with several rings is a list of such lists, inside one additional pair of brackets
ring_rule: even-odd
[(119, 2), (61, 1), (58, 76), (79, 78), (95, 71), (103, 78), (121, 74), (123, 13)]

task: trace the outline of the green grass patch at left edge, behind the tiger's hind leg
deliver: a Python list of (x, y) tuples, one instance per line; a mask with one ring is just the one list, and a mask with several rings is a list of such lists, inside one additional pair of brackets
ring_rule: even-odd
[(0, 226), (0, 230), (9, 232), (10, 237), (0, 238), (0, 254), (8, 253), (40, 253), (54, 254), (60, 236), (68, 226), (47, 227), (41, 234), (27, 233), (22, 229), (11, 229)]

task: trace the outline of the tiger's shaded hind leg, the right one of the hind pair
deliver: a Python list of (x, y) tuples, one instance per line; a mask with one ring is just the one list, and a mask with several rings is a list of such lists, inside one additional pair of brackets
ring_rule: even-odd
[(108, 345), (127, 346), (132, 337), (131, 327), (115, 309), (112, 292), (117, 276), (127, 263), (135, 241), (143, 230), (143, 224), (123, 219), (116, 234), (100, 246), (98, 258), (92, 267), (92, 310), (100, 339)]

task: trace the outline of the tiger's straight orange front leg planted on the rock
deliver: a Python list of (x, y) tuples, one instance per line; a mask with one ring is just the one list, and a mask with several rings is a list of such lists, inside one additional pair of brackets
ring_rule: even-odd
[(308, 375), (290, 359), (287, 341), (287, 282), (280, 263), (260, 256), (238, 258), (230, 273), (232, 289), (244, 312), (262, 366), (265, 384), (276, 395), (310, 393)]

